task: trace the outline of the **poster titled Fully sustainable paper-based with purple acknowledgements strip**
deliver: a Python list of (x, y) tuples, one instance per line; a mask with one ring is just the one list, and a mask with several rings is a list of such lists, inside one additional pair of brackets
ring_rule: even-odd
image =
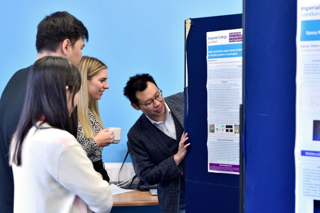
[(242, 29), (207, 32), (208, 172), (239, 174)]

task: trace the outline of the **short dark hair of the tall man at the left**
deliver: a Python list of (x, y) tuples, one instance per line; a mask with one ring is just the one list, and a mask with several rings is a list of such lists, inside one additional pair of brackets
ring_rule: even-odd
[(66, 11), (55, 12), (38, 24), (36, 49), (38, 53), (55, 52), (65, 39), (70, 39), (74, 45), (81, 37), (89, 40), (88, 30), (81, 21)]

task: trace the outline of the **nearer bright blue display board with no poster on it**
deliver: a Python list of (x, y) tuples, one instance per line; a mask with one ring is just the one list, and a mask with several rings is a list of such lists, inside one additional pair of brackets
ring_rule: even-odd
[(297, 2), (244, 3), (243, 212), (294, 212)]

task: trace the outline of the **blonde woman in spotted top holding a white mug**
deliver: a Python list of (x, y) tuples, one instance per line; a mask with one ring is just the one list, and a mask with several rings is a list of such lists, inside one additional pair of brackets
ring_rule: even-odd
[(113, 131), (104, 129), (98, 109), (98, 100), (109, 88), (107, 66), (94, 57), (83, 56), (78, 69), (81, 73), (79, 92), (77, 141), (82, 145), (94, 169), (109, 182), (102, 162), (102, 149), (113, 141)]

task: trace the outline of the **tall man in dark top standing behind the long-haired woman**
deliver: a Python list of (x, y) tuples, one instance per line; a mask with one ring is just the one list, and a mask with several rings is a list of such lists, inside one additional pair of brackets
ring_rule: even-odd
[[(88, 38), (87, 28), (76, 17), (65, 11), (52, 13), (38, 25), (36, 60), (44, 56), (59, 56), (77, 66), (82, 57), (84, 40), (88, 41)], [(0, 99), (0, 212), (5, 213), (13, 212), (14, 187), (8, 149), (19, 121), (30, 68), (21, 69), (12, 76)]]

